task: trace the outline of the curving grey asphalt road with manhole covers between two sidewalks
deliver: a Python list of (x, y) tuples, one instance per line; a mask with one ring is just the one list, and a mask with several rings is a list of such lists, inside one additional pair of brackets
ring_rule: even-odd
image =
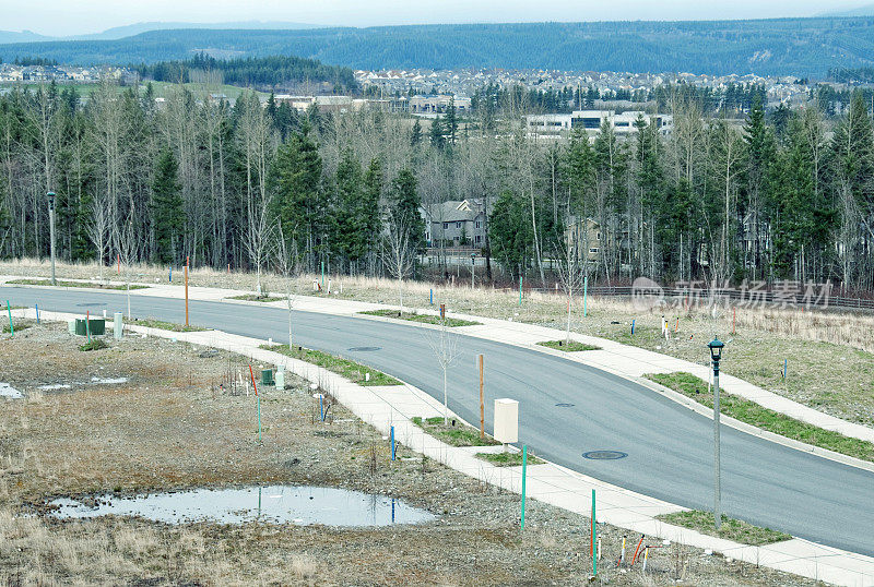
[[(106, 309), (111, 315), (127, 308), (123, 294), (74, 289), (0, 287), (0, 300), (5, 299), (62, 312), (102, 314)], [(131, 306), (138, 318), (185, 321), (180, 300), (131, 296)], [(285, 310), (193, 301), (190, 311), (192, 324), (264, 339), (287, 336)], [(433, 331), (300, 311), (294, 313), (294, 330), (296, 344), (367, 363), (442, 400), (442, 372), (429, 344)], [(475, 360), (484, 354), (487, 429), (495, 398), (518, 399), (519, 438), (538, 455), (672, 503), (712, 507), (712, 420), (647, 387), (559, 357), (466, 336), (458, 336), (457, 345), (449, 407), (462, 418), (479, 422)], [(352, 350), (356, 347), (379, 348)], [(728, 515), (874, 555), (874, 474), (725, 426), (721, 436)], [(582, 456), (589, 451), (627, 456), (591, 460)]]

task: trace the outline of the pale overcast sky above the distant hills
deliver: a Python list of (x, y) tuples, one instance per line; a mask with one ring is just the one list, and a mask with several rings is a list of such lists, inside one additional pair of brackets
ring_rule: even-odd
[[(0, 0), (0, 29), (97, 33), (151, 21), (326, 25), (811, 16), (872, 0)], [(423, 8), (425, 7), (425, 8)]]

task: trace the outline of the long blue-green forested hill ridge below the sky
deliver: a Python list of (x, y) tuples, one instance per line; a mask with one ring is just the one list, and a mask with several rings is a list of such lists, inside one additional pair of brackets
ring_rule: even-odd
[(318, 59), (355, 69), (559, 70), (825, 76), (874, 65), (874, 17), (172, 29), (114, 40), (0, 45), (0, 58), (153, 63), (210, 55)]

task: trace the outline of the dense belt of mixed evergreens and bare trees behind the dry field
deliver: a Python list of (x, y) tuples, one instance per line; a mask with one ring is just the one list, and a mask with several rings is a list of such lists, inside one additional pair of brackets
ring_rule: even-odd
[[(103, 86), (0, 97), (0, 254), (45, 256), (46, 192), (70, 261), (413, 274), (420, 206), (492, 211), (495, 277), (543, 278), (572, 249), (600, 280), (832, 279), (872, 289), (874, 127), (857, 96), (742, 127), (678, 98), (673, 134), (534, 141), (525, 105), (428, 122), (363, 109), (297, 113), (253, 94), (231, 107), (177, 88)], [(568, 240), (572, 218), (591, 230)], [(597, 249), (594, 255), (586, 251)], [(435, 253), (439, 256), (439, 252)], [(588, 260), (588, 261), (587, 261)]]

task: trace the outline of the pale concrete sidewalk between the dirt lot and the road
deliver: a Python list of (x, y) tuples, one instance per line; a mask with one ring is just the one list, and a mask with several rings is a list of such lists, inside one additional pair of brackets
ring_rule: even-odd
[[(35, 318), (34, 310), (15, 310), (15, 315)], [(69, 320), (80, 314), (40, 312), (45, 320)], [(383, 435), (394, 427), (395, 439), (410, 448), (483, 482), (521, 492), (521, 467), (497, 467), (475, 456), (486, 447), (454, 447), (426, 434), (412, 418), (442, 415), (442, 405), (409, 384), (364, 387), (304, 361), (260, 348), (265, 342), (220, 331), (175, 333), (127, 325), (129, 332), (175, 338), (193, 345), (231, 350), (251, 359), (283, 366), (318, 383), (340, 403)], [(111, 332), (107, 325), (107, 332)], [(451, 417), (458, 418), (451, 414)], [(598, 522), (627, 528), (659, 539), (720, 552), (724, 556), (759, 564), (808, 578), (848, 586), (874, 586), (874, 559), (807, 540), (792, 539), (765, 547), (748, 547), (662, 523), (654, 516), (683, 511), (677, 505), (604, 483), (553, 464), (530, 466), (527, 495), (570, 512), (589, 516), (591, 493), (597, 492)], [(612, 554), (612, 553), (611, 553)]]

